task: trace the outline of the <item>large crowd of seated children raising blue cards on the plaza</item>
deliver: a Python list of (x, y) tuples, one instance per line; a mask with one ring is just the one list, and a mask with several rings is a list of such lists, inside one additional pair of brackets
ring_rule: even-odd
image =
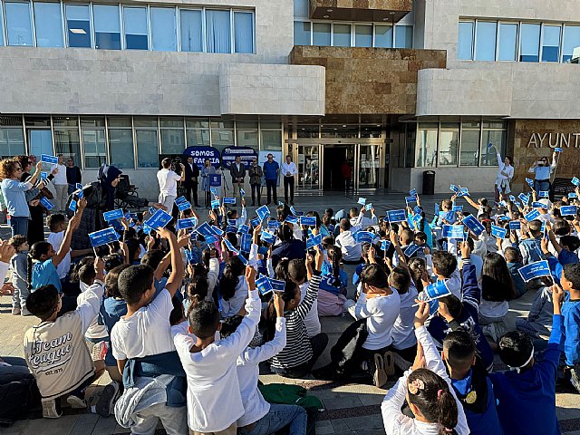
[[(123, 211), (118, 240), (89, 251), (70, 247), (86, 206), (74, 192), (69, 218), (50, 216), (49, 242), (0, 244), (14, 308), (39, 319), (24, 333), (36, 394), (23, 406), (37, 398), (58, 418), (65, 399), (136, 434), (159, 422), (169, 434), (305, 434), (304, 408), (264, 398), (269, 370), (396, 381), (382, 402), (387, 434), (560, 433), (556, 382), (580, 392), (580, 192), (491, 207), (453, 190), (431, 222), (414, 191), (385, 216), (361, 198), (323, 217), (280, 203), (252, 218), (241, 192), (216, 196), (204, 220), (178, 198), (159, 226), (157, 208)], [(527, 292), (530, 314), (510, 327), (508, 302)], [(324, 315), (353, 322), (313, 370)], [(496, 354), (507, 371), (494, 371)], [(112, 382), (88, 401), (105, 371)]]

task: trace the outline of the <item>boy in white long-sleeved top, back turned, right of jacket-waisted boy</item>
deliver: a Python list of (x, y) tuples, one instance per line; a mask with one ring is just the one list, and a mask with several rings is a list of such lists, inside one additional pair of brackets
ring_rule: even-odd
[(221, 329), (219, 310), (210, 301), (189, 309), (188, 324), (173, 327), (173, 341), (188, 377), (189, 433), (236, 435), (237, 420), (244, 413), (236, 362), (246, 349), (260, 320), (261, 303), (256, 291), (256, 270), (247, 266), (246, 316), (235, 333), (216, 342)]

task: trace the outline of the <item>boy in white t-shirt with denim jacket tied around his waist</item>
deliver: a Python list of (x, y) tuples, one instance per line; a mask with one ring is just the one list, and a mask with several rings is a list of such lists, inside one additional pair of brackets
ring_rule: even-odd
[[(127, 303), (127, 314), (121, 317), (111, 329), (112, 354), (117, 360), (119, 372), (123, 373), (125, 364), (130, 359), (144, 358), (175, 351), (171, 340), (169, 314), (173, 310), (171, 302), (183, 277), (183, 262), (179, 254), (177, 237), (169, 229), (158, 228), (160, 237), (169, 241), (171, 251), (171, 275), (160, 291), (155, 295), (154, 270), (150, 266), (129, 266), (119, 275), (118, 287), (121, 296)], [(152, 389), (151, 383), (160, 384), (159, 378), (141, 377), (135, 381), (135, 388)], [(169, 381), (172, 377), (169, 376)], [(126, 389), (115, 405), (115, 416), (124, 427), (130, 427), (132, 433), (152, 433), (159, 420), (169, 435), (184, 433), (187, 425), (185, 407), (169, 407), (167, 397), (157, 401), (150, 395), (143, 394), (135, 399), (135, 388)], [(161, 391), (165, 391), (163, 388)], [(139, 403), (131, 403), (139, 401)]]

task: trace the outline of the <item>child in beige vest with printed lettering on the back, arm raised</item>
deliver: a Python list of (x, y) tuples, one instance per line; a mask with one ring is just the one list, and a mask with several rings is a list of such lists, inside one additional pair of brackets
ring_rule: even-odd
[(26, 298), (28, 310), (41, 320), (24, 333), (24, 354), (42, 395), (45, 418), (61, 416), (57, 400), (64, 395), (73, 408), (86, 408), (84, 391), (102, 374), (95, 371), (84, 343), (84, 333), (99, 313), (103, 293), (100, 258), (94, 267), (94, 284), (73, 312), (57, 317), (62, 302), (54, 285), (43, 285)]

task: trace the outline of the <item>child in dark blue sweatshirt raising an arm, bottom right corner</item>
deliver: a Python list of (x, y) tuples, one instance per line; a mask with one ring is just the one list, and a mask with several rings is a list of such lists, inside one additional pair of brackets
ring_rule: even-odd
[(562, 353), (560, 343), (564, 339), (564, 316), (561, 312), (564, 290), (559, 285), (553, 285), (552, 294), (552, 333), (541, 362), (534, 361), (534, 345), (526, 333), (506, 333), (499, 340), (499, 357), (510, 370), (488, 376), (493, 383), (499, 421), (505, 433), (560, 433), (556, 418), (556, 377)]

